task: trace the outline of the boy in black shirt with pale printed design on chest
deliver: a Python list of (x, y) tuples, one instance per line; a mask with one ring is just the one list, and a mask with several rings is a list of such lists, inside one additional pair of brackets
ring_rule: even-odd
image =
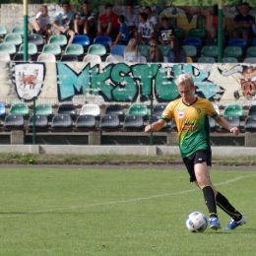
[(159, 30), (159, 41), (162, 45), (168, 45), (175, 38), (175, 29), (169, 25), (167, 17), (161, 18), (162, 27)]

